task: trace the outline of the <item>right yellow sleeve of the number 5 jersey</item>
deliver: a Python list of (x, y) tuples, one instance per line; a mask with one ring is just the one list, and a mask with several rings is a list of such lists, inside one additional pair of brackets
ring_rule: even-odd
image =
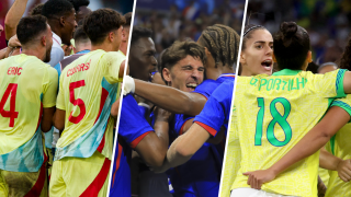
[(121, 63), (125, 60), (125, 56), (121, 53), (109, 51), (103, 55), (102, 61), (104, 67), (104, 78), (111, 84), (123, 81), (123, 78), (118, 77)]

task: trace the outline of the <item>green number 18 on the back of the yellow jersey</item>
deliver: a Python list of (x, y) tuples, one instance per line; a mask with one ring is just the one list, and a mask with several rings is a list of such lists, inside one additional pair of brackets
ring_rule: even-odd
[[(256, 125), (256, 135), (254, 135), (254, 146), (261, 146), (262, 144), (262, 132), (263, 132), (263, 116), (264, 116), (264, 99), (263, 97), (258, 97), (257, 99), (258, 105), (260, 107), (259, 113), (257, 114), (257, 125)], [(276, 107), (275, 104), (281, 103), (284, 107), (284, 114), (281, 115)], [(293, 136), (293, 131), (288, 123), (286, 121), (286, 118), (292, 109), (292, 106), (290, 102), (284, 99), (284, 97), (276, 97), (274, 99), (271, 104), (270, 104), (270, 112), (271, 115), (273, 116), (273, 119), (271, 123), (268, 125), (267, 128), (267, 139), (270, 143), (272, 143), (275, 147), (283, 147), (286, 143), (290, 142)], [(280, 141), (275, 138), (274, 136), (274, 126), (275, 124), (279, 124), (284, 134), (285, 134), (285, 140)]]

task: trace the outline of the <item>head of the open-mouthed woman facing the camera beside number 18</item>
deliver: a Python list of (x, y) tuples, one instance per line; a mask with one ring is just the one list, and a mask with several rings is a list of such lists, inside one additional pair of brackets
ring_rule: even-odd
[(245, 26), (240, 54), (240, 76), (272, 74), (273, 37), (261, 25)]

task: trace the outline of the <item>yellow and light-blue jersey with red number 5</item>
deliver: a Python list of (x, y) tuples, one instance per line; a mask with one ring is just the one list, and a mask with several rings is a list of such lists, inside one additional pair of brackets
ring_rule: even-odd
[(61, 72), (57, 108), (66, 111), (65, 130), (56, 144), (55, 160), (90, 158), (97, 150), (111, 160), (114, 120), (112, 104), (120, 95), (121, 62), (115, 51), (90, 51)]

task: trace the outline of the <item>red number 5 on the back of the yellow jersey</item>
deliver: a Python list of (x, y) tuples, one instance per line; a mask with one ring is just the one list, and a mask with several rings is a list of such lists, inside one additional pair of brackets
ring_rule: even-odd
[(75, 89), (78, 89), (78, 88), (81, 88), (81, 86), (84, 86), (86, 85), (86, 82), (84, 80), (80, 80), (80, 81), (76, 81), (76, 82), (71, 82), (69, 83), (69, 102), (71, 104), (73, 104), (75, 106), (79, 106), (79, 111), (80, 111), (80, 114), (78, 116), (73, 116), (72, 113), (73, 112), (70, 112), (70, 115), (68, 117), (68, 120), (70, 123), (73, 123), (73, 124), (78, 124), (81, 119), (83, 119), (84, 115), (86, 115), (86, 105), (84, 105), (84, 102), (81, 100), (81, 99), (75, 99)]

